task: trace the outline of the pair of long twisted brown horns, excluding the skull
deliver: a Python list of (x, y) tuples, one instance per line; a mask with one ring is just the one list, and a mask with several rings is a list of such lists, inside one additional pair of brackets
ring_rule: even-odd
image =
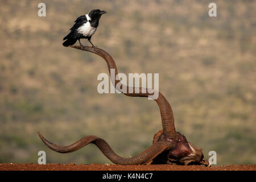
[[(69, 46), (72, 48), (81, 49), (83, 51), (88, 51), (92, 53), (96, 53), (97, 55), (103, 57), (108, 64), (109, 73), (111, 73), (111, 69), (115, 69), (115, 79), (111, 78), (113, 85), (116, 89), (118, 89), (117, 84), (119, 84), (119, 92), (122, 92), (123, 87), (126, 87), (127, 92), (125, 94), (126, 96), (131, 97), (151, 97), (154, 95), (154, 92), (158, 92), (154, 89), (146, 89), (146, 88), (131, 88), (126, 85), (122, 85), (121, 81), (118, 78), (118, 72), (117, 67), (115, 65), (115, 62), (112, 58), (112, 56), (109, 55), (106, 51), (100, 49), (100, 48), (92, 48), (88, 46)], [(111, 74), (110, 74), (111, 75)], [(128, 90), (133, 89), (133, 93), (129, 93)], [(139, 89), (139, 93), (135, 93), (135, 89)], [(142, 92), (142, 90), (146, 90), (146, 92)], [(163, 126), (163, 134), (170, 138), (170, 141), (159, 141), (152, 146), (148, 147), (146, 150), (141, 152), (141, 154), (138, 154), (137, 156), (134, 156), (132, 158), (122, 158), (121, 156), (118, 156), (115, 154), (115, 152), (110, 148), (109, 144), (105, 142), (104, 139), (95, 137), (93, 135), (84, 137), (80, 139), (79, 141), (69, 145), (69, 146), (59, 146), (57, 144), (49, 142), (47, 139), (45, 139), (39, 132), (39, 137), (43, 140), (44, 144), (46, 144), (49, 148), (56, 152), (61, 153), (67, 153), (67, 152), (73, 152), (76, 150), (79, 150), (80, 148), (86, 146), (89, 143), (96, 144), (98, 148), (100, 148), (101, 152), (113, 163), (115, 164), (122, 164), (122, 165), (131, 165), (131, 164), (146, 164), (150, 162), (150, 160), (154, 159), (156, 156), (161, 154), (163, 151), (171, 150), (171, 148), (175, 147), (174, 140), (177, 140), (177, 133), (174, 126), (174, 115), (172, 113), (172, 108), (169, 102), (164, 98), (163, 94), (160, 92), (158, 93), (158, 98), (154, 99), (156, 103), (159, 106), (160, 114), (162, 118), (162, 126)]]

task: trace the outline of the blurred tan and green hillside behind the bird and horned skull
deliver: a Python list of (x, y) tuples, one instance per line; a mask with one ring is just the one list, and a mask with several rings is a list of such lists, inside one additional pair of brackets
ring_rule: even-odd
[[(46, 3), (46, 17), (38, 3)], [(212, 1), (213, 2), (213, 1)], [(49, 150), (86, 135), (104, 138), (129, 157), (162, 128), (146, 98), (99, 94), (105, 61), (65, 48), (73, 21), (108, 11), (92, 37), (120, 73), (159, 73), (176, 130), (196, 147), (217, 152), (217, 164), (256, 163), (256, 1), (1, 1), (0, 163), (111, 163), (93, 144), (71, 154)], [(89, 46), (87, 40), (82, 43)]]

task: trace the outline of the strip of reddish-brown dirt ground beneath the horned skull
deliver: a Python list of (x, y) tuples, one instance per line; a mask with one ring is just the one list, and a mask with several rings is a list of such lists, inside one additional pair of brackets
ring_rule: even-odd
[(129, 165), (116, 164), (0, 164), (0, 171), (256, 171), (253, 165), (224, 166), (175, 166), (175, 165)]

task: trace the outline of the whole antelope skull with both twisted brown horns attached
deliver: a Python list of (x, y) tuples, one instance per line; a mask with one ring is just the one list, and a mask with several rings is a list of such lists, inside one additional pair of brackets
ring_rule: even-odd
[[(115, 69), (115, 77), (117, 77), (118, 72), (114, 59), (106, 51), (100, 48), (92, 48), (88, 46), (69, 47), (93, 52), (103, 57), (108, 64), (109, 73), (110, 69)], [(113, 81), (113, 84), (116, 86), (118, 82), (120, 82), (120, 80), (115, 79), (115, 81)], [(122, 86), (120, 86), (120, 88), (121, 87)], [(129, 88), (128, 86), (126, 86), (126, 88), (127, 90), (135, 90), (135, 88)], [(154, 94), (152, 92), (142, 93), (142, 89), (143, 88), (139, 88), (139, 93), (126, 92), (123, 94), (131, 97), (150, 97)], [(154, 92), (157, 91), (154, 90)], [(61, 153), (79, 150), (80, 148), (86, 146), (89, 143), (96, 144), (96, 146), (100, 148), (101, 152), (115, 164), (204, 164), (205, 166), (209, 166), (208, 161), (204, 160), (203, 152), (201, 152), (202, 149), (195, 147), (192, 143), (187, 141), (184, 135), (176, 132), (174, 126), (174, 115), (172, 113), (171, 105), (166, 100), (166, 98), (164, 98), (163, 94), (159, 92), (159, 97), (156, 98), (155, 101), (160, 109), (163, 129), (155, 134), (152, 146), (141, 152), (141, 154), (138, 154), (137, 156), (134, 156), (132, 158), (122, 158), (121, 156), (118, 156), (117, 154), (115, 154), (112, 148), (110, 148), (109, 144), (105, 142), (104, 139), (95, 137), (93, 135), (84, 137), (79, 141), (71, 144), (70, 146), (59, 146), (57, 144), (49, 142), (39, 132), (38, 134), (39, 137), (49, 148)]]

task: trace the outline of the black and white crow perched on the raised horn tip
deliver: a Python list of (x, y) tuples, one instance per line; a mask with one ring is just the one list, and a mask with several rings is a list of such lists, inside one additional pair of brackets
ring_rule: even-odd
[[(69, 34), (63, 38), (63, 40), (66, 40), (63, 46), (72, 46), (77, 40), (79, 40), (80, 46), (82, 46), (80, 39), (88, 39), (90, 42), (90, 38), (92, 38), (92, 35), (97, 30), (101, 15), (105, 13), (106, 11), (97, 9), (90, 11), (89, 14), (79, 16), (79, 18), (75, 20), (73, 27), (69, 29)], [(90, 42), (90, 44), (95, 47), (92, 42)]]

